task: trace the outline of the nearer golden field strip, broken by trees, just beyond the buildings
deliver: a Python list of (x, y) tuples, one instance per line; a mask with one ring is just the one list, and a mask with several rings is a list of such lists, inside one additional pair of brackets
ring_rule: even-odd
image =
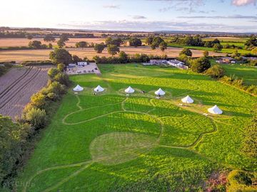
[[(93, 58), (95, 55), (109, 57), (110, 54), (107, 53), (105, 48), (103, 53), (96, 53), (94, 48), (67, 48), (69, 52), (73, 55), (78, 55), (80, 58), (87, 57), (89, 59)], [(134, 47), (121, 47), (120, 50), (124, 50), (127, 54), (136, 53), (146, 53), (152, 55), (163, 55), (166, 54), (168, 57), (177, 57), (181, 52), (182, 48), (168, 48), (164, 52), (159, 49), (151, 50), (148, 46), (142, 46), (138, 48)], [(1, 50), (0, 51), (0, 62), (16, 60), (22, 62), (24, 60), (47, 60), (49, 59), (49, 53), (51, 50)], [(200, 57), (203, 55), (201, 50), (192, 50), (193, 57)], [(213, 53), (210, 55), (224, 55), (223, 53)]]

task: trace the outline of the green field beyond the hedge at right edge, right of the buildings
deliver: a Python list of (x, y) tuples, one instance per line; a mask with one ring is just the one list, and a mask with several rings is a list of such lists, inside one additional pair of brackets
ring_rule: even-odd
[[(215, 60), (211, 60), (215, 64)], [(257, 85), (257, 68), (245, 64), (221, 64), (228, 77), (235, 75), (242, 78), (246, 85)]]

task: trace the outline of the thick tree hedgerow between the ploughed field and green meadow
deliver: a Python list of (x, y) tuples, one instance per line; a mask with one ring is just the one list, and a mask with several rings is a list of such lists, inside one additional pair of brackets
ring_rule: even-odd
[[(29, 151), (34, 146), (36, 134), (46, 127), (53, 112), (56, 101), (66, 93), (69, 77), (63, 73), (63, 64), (49, 70), (49, 82), (42, 90), (31, 97), (21, 119), (13, 122), (10, 117), (0, 114), (0, 183), (4, 188), (11, 188), (17, 170), (28, 159)], [(57, 102), (58, 103), (58, 102)]]

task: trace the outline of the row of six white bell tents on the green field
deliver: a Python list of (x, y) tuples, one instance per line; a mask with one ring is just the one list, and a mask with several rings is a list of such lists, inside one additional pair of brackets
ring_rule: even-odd
[[(83, 91), (84, 88), (79, 86), (79, 85), (76, 85), (76, 87), (74, 87), (74, 91), (75, 92), (79, 92), (79, 91)], [(103, 92), (104, 91), (104, 88), (101, 87), (100, 85), (98, 85), (96, 88), (94, 88), (94, 91), (95, 92)], [(131, 86), (129, 86), (128, 88), (126, 88), (125, 90), (126, 93), (133, 93), (135, 92), (135, 90), (133, 90), (133, 88)], [(156, 90), (156, 92), (154, 92), (155, 95), (158, 95), (158, 96), (163, 96), (166, 94), (166, 92), (164, 92), (161, 88)], [(193, 103), (193, 99), (187, 95), (186, 97), (184, 97), (183, 99), (181, 99), (182, 102), (184, 103)], [(222, 110), (218, 108), (217, 105), (214, 105), (213, 107), (211, 108), (208, 108), (208, 112), (212, 113), (212, 114), (222, 114)]]

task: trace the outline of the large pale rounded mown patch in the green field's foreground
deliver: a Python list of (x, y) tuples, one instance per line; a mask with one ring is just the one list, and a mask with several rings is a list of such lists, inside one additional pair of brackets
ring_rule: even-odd
[(90, 152), (92, 159), (101, 164), (121, 164), (148, 153), (155, 143), (156, 138), (145, 134), (114, 132), (96, 137)]

